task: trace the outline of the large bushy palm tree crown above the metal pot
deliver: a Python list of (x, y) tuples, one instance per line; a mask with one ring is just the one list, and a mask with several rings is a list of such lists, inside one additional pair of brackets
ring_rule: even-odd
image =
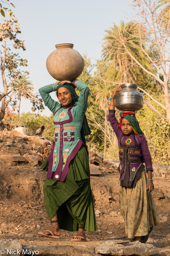
[[(113, 24), (113, 27), (106, 32), (107, 34), (105, 35), (103, 44), (103, 56), (105, 59), (110, 60), (110, 65), (107, 71), (108, 74), (110, 73), (113, 79), (116, 79), (117, 82), (121, 83), (135, 84), (138, 82), (141, 85), (144, 81), (146, 83), (146, 80), (150, 79), (150, 77), (148, 78), (145, 72), (136, 65), (121, 44), (121, 37), (123, 37), (131, 54), (142, 63), (147, 70), (152, 68), (150, 62), (138, 46), (140, 38), (137, 27), (135, 27), (132, 22), (124, 23), (124, 21), (120, 21), (118, 26)], [(146, 44), (144, 36), (142, 38), (142, 43)], [(145, 46), (143, 45), (143, 47)], [(149, 51), (150, 49), (147, 50)], [(157, 53), (155, 52), (155, 54)]]

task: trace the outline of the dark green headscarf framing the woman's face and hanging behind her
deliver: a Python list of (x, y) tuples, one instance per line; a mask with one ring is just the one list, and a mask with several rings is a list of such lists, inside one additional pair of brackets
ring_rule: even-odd
[[(57, 87), (57, 91), (56, 91), (56, 95), (57, 95), (57, 98), (58, 98), (58, 89), (60, 87), (65, 87), (67, 88), (70, 93), (72, 94), (72, 97), (73, 97), (73, 102), (76, 103), (78, 102), (78, 95), (76, 93), (76, 90), (74, 89), (73, 85), (72, 84), (69, 84), (68, 82), (64, 82), (63, 84), (58, 84), (58, 87)], [(83, 143), (86, 145), (86, 139), (85, 139), (85, 136), (89, 135), (91, 133), (91, 130), (89, 128), (89, 124), (87, 122), (87, 118), (86, 118), (86, 115), (84, 114), (84, 119), (83, 119), (83, 124), (82, 124), (82, 127), (81, 127), (81, 138), (82, 138), (82, 141)]]

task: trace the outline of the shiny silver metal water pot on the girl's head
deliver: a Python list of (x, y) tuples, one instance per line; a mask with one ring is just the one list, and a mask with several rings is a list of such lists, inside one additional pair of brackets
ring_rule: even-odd
[(115, 106), (121, 111), (138, 111), (143, 107), (143, 94), (137, 90), (138, 85), (123, 84), (116, 94)]

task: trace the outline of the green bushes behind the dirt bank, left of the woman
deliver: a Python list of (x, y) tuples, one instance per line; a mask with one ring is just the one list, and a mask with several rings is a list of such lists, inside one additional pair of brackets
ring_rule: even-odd
[[(54, 124), (53, 124), (53, 115), (45, 116), (38, 115), (33, 113), (25, 113), (23, 112), (20, 115), (20, 123), (19, 125), (24, 125), (25, 128), (28, 129), (29, 133), (35, 134), (36, 130), (39, 129), (42, 125), (45, 126), (44, 132), (42, 136), (54, 139)], [(14, 120), (16, 121), (16, 120)]]

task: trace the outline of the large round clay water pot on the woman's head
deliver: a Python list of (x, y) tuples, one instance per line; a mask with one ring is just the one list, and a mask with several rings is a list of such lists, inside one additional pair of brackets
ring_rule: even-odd
[(58, 81), (78, 78), (84, 69), (84, 59), (73, 49), (72, 43), (56, 44), (46, 60), (46, 68), (49, 74)]

